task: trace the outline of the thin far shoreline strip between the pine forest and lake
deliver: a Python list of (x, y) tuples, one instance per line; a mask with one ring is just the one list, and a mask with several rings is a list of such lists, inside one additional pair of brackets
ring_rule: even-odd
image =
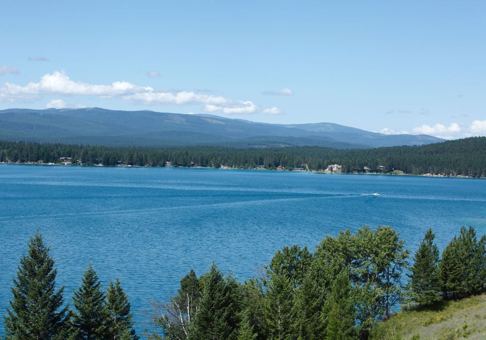
[(59, 164), (59, 163), (35, 163), (35, 162), (27, 162), (27, 163), (17, 163), (17, 162), (0, 162), (0, 164), (17, 164), (17, 165), (40, 165), (40, 166), (71, 166), (71, 167), (104, 167), (104, 168), (182, 168), (182, 169), (214, 169), (214, 170), (265, 170), (265, 171), (293, 171), (293, 172), (311, 172), (316, 174), (325, 174), (325, 175), (391, 175), (391, 176), (420, 176), (420, 177), (435, 177), (435, 178), (470, 178), (470, 179), (485, 179), (486, 177), (472, 177), (466, 175), (454, 175), (454, 176), (446, 176), (443, 174), (431, 174), (431, 173), (424, 173), (424, 174), (411, 174), (411, 173), (382, 173), (382, 172), (325, 172), (325, 171), (316, 171), (316, 170), (288, 170), (288, 169), (268, 169), (268, 168), (256, 168), (256, 169), (246, 169), (246, 168), (229, 168), (229, 167), (220, 167), (220, 168), (213, 168), (213, 167), (201, 167), (201, 166), (194, 166), (194, 167), (161, 167), (161, 166), (139, 166), (139, 165), (102, 165), (102, 164), (93, 164), (93, 165), (72, 165), (72, 164)]

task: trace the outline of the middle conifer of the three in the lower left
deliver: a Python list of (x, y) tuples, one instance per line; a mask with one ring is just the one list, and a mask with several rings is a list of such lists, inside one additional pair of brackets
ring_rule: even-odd
[(105, 339), (107, 313), (101, 282), (91, 263), (83, 275), (81, 287), (72, 296), (74, 307), (73, 323), (80, 339)]

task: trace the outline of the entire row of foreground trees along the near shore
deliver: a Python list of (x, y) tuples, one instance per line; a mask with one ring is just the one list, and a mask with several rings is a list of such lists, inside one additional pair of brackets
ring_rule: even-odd
[[(152, 301), (159, 340), (384, 339), (376, 327), (394, 308), (434, 306), (480, 294), (486, 288), (486, 235), (473, 227), (439, 250), (429, 229), (412, 264), (405, 241), (389, 226), (326, 236), (311, 252), (294, 245), (243, 283), (216, 264), (191, 270), (167, 302)], [(73, 305), (55, 292), (56, 270), (41, 236), (20, 260), (5, 339), (138, 339), (128, 297), (117, 280), (106, 292), (91, 265)], [(403, 272), (408, 281), (405, 282)]]

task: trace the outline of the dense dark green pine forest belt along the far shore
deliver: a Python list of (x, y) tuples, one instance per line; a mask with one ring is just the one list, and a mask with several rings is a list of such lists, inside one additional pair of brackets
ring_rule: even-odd
[[(445, 176), (486, 176), (486, 137), (470, 137), (422, 146), (376, 149), (285, 147), (238, 149), (225, 147), (122, 148), (31, 142), (0, 142), (0, 162), (75, 165), (172, 166), (319, 171), (331, 164), (342, 172), (399, 172)], [(70, 160), (70, 161), (71, 161)]]

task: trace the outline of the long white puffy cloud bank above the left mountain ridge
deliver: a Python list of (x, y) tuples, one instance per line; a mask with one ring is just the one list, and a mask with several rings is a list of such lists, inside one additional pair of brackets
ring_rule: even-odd
[[(64, 72), (59, 71), (43, 75), (37, 83), (33, 82), (25, 86), (4, 83), (0, 86), (0, 101), (3, 102), (40, 99), (44, 95), (98, 96), (102, 99), (120, 98), (148, 105), (202, 104), (205, 105), (204, 109), (207, 112), (221, 111), (227, 115), (245, 115), (257, 112), (277, 114), (276, 112), (278, 111), (277, 108), (261, 111), (251, 101), (232, 101), (223, 96), (193, 91), (157, 91), (150, 86), (139, 86), (126, 81), (114, 82), (110, 85), (76, 82), (71, 80)], [(50, 104), (60, 105), (60, 102), (51, 101)]]

